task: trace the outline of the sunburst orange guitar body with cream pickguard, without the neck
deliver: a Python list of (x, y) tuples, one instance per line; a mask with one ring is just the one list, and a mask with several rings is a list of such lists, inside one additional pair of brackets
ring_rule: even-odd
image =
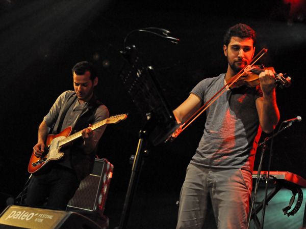
[(32, 153), (28, 166), (29, 173), (31, 174), (35, 173), (37, 170), (43, 167), (47, 162), (51, 160), (58, 160), (64, 156), (64, 153), (60, 152), (61, 146), (59, 146), (59, 141), (68, 137), (71, 133), (71, 130), (72, 127), (69, 126), (57, 135), (49, 134), (47, 136), (47, 139), (45, 141), (46, 147), (44, 149), (44, 154), (41, 157), (37, 158), (34, 155), (34, 152)]

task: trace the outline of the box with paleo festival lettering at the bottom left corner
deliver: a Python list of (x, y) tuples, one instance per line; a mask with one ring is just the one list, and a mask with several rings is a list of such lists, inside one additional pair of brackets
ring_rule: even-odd
[(31, 229), (104, 229), (75, 212), (56, 211), (11, 205), (0, 215), (0, 228)]

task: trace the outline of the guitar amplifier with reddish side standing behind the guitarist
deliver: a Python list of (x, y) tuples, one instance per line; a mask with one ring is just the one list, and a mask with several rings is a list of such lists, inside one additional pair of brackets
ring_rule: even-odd
[(68, 203), (69, 211), (103, 214), (114, 166), (107, 159), (95, 159), (92, 174), (81, 181)]

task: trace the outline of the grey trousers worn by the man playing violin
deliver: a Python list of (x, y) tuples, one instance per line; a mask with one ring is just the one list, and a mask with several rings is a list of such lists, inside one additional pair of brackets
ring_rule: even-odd
[(209, 196), (218, 229), (246, 228), (251, 190), (250, 171), (189, 164), (181, 190), (176, 228), (207, 228), (205, 217)]

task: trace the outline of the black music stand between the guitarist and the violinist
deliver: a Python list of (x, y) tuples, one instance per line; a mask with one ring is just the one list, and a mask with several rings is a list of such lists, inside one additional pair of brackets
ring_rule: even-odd
[(120, 225), (116, 227), (118, 229), (124, 229), (127, 224), (136, 184), (143, 164), (144, 147), (148, 147), (148, 144), (157, 146), (164, 142), (180, 126), (177, 124), (173, 112), (163, 95), (153, 67), (146, 66), (142, 62), (134, 45), (132, 48), (126, 47), (122, 54), (125, 63), (119, 73), (119, 77), (141, 114), (145, 114), (147, 121), (139, 132), (138, 147), (132, 167), (129, 188), (125, 197)]

